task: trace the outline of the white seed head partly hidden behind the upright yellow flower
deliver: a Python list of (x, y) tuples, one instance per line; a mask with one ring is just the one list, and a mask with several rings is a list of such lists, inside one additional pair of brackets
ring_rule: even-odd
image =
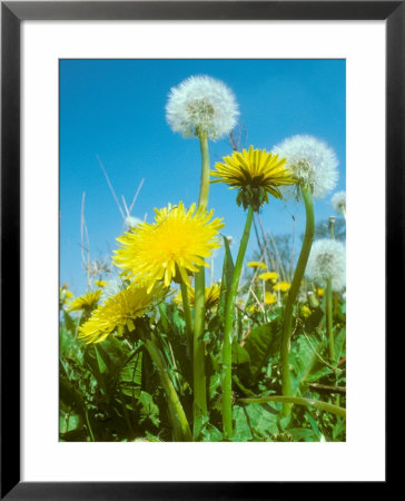
[[(285, 139), (273, 148), (287, 159), (287, 167), (294, 177), (304, 186), (308, 186), (314, 198), (323, 198), (335, 188), (337, 183), (337, 158), (332, 148), (324, 141), (313, 137), (298, 135)], [(296, 190), (287, 190), (293, 195)]]

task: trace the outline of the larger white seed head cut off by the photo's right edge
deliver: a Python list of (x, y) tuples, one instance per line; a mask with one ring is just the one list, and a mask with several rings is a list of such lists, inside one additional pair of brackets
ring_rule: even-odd
[(332, 289), (339, 292), (346, 285), (346, 249), (342, 242), (322, 238), (310, 249), (307, 277), (325, 287), (332, 279)]

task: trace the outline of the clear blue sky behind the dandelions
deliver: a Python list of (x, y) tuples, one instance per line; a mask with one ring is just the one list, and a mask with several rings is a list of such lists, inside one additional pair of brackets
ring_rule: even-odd
[[(230, 87), (239, 104), (247, 141), (271, 149), (288, 136), (309, 134), (325, 140), (339, 160), (336, 189), (346, 181), (346, 72), (344, 60), (61, 60), (60, 61), (60, 281), (76, 294), (86, 291), (81, 265), (80, 213), (85, 217), (91, 259), (108, 258), (121, 234), (122, 216), (100, 168), (127, 205), (145, 183), (131, 212), (152, 220), (154, 207), (198, 198), (198, 139), (182, 139), (166, 122), (171, 87), (191, 75), (209, 75)], [(211, 165), (231, 153), (226, 139), (210, 141)], [(330, 194), (333, 195), (333, 194)], [(211, 185), (209, 206), (224, 217), (236, 255), (245, 214), (236, 191)], [(333, 214), (330, 196), (315, 202), (316, 220)], [(273, 234), (305, 224), (300, 204), (271, 199), (261, 213)], [(247, 257), (256, 248), (251, 233)], [(214, 275), (220, 276), (221, 250)]]

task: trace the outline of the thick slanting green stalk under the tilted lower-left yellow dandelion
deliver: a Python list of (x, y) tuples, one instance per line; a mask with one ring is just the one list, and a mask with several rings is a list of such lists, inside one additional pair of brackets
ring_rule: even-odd
[(186, 413), (177, 395), (176, 389), (169, 377), (167, 366), (160, 353), (160, 350), (157, 347), (154, 338), (145, 340), (145, 346), (158, 369), (160, 382), (165, 389), (175, 440), (177, 442), (191, 442), (192, 436), (190, 428), (188, 425)]

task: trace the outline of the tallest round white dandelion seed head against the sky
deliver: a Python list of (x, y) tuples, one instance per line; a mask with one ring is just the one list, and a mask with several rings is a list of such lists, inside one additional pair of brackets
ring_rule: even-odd
[(220, 80), (194, 76), (170, 89), (166, 119), (185, 138), (201, 132), (216, 140), (229, 134), (239, 115), (233, 91)]

